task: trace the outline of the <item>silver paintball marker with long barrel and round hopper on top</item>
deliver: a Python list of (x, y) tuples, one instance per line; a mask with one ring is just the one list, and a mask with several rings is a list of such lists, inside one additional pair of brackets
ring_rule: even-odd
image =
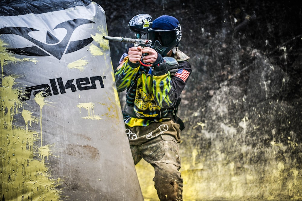
[(124, 38), (124, 37), (113, 37), (103, 36), (103, 39), (119, 41), (119, 42), (130, 42), (134, 46), (150, 47), (152, 44), (151, 40), (141, 39), (143, 34), (148, 32), (148, 29), (152, 27), (152, 17), (149, 14), (138, 14), (130, 20), (128, 24), (130, 30), (136, 33), (136, 38)]

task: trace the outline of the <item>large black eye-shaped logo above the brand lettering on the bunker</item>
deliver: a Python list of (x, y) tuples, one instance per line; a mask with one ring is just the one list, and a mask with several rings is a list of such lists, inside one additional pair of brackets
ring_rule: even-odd
[[(4, 27), (0, 29), (0, 34), (15, 34), (22, 36), (23, 38), (33, 42), (37, 46), (32, 47), (24, 47), (24, 48), (10, 48), (9, 50), (20, 54), (20, 55), (27, 55), (27, 56), (50, 56), (53, 55), (57, 59), (61, 59), (64, 52), (65, 54), (75, 52), (83, 47), (87, 46), (89, 43), (93, 41), (92, 37), (77, 40), (77, 41), (70, 41), (72, 33), (74, 30), (83, 25), (83, 24), (92, 24), (95, 23), (91, 20), (87, 19), (74, 19), (68, 20), (58, 24), (56, 27), (53, 28), (59, 29), (64, 28), (66, 29), (67, 33), (65, 37), (60, 41), (56, 38), (53, 34), (51, 34), (48, 30), (46, 33), (46, 43), (40, 42), (37, 39), (32, 38), (29, 33), (32, 31), (40, 31), (34, 28), (28, 27)], [(68, 44), (69, 43), (69, 44)], [(67, 47), (68, 46), (68, 47)], [(40, 47), (40, 48), (39, 48)]]

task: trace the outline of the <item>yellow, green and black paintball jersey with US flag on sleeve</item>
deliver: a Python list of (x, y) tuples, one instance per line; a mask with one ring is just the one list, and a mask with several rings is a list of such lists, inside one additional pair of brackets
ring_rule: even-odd
[(117, 91), (127, 90), (126, 102), (133, 108), (133, 114), (124, 112), (124, 121), (130, 127), (147, 126), (154, 121), (163, 121), (172, 117), (177, 100), (191, 73), (191, 65), (178, 61), (177, 73), (172, 76), (165, 68), (156, 71), (139, 64), (133, 68), (127, 55), (115, 71)]

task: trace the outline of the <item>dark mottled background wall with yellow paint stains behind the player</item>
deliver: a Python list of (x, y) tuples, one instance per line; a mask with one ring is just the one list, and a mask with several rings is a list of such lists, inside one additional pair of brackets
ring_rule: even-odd
[[(180, 21), (193, 68), (179, 107), (185, 200), (302, 199), (301, 1), (96, 2), (110, 36), (134, 38), (140, 13)], [(127, 45), (110, 42), (114, 69)], [(137, 172), (157, 200), (150, 167)]]

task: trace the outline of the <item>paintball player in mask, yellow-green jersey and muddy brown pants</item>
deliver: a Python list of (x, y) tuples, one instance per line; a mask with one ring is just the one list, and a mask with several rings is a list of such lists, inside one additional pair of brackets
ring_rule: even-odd
[(114, 72), (117, 91), (127, 90), (126, 134), (134, 164), (143, 158), (153, 166), (159, 199), (182, 200), (178, 143), (184, 127), (176, 112), (191, 65), (178, 50), (182, 30), (175, 17), (156, 18), (147, 37), (151, 47), (128, 47)]

